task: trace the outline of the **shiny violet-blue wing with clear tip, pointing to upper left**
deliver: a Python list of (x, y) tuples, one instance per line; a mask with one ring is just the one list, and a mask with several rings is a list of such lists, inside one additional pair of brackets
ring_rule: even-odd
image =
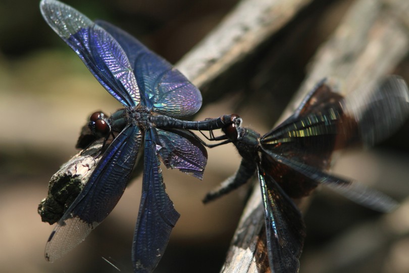
[(139, 104), (139, 89), (129, 60), (107, 31), (55, 0), (42, 0), (40, 10), (48, 25), (78, 54), (115, 99), (125, 106)]

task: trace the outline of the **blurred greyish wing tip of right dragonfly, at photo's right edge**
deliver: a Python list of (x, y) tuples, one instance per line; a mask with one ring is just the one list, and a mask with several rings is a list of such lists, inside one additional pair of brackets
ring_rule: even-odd
[(389, 76), (375, 89), (346, 97), (345, 112), (359, 125), (363, 143), (372, 146), (395, 132), (409, 115), (409, 90), (399, 76)]

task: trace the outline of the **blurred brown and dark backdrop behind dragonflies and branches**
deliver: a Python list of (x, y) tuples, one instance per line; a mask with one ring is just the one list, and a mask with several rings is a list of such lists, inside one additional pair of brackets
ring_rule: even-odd
[[(203, 107), (193, 118), (236, 112), (245, 126), (267, 132), (304, 78), (317, 47), (353, 2), (315, 1), (300, 15), (302, 29), (286, 29), (274, 37), (275, 43), (288, 42), (291, 31), (296, 32), (298, 40), (290, 43), (289, 51), (277, 57), (274, 43), (268, 42), (251, 60), (251, 71), (242, 75), (246, 84), (231, 82), (204, 92)], [(120, 26), (176, 63), (237, 0), (65, 3), (90, 19)], [(409, 80), (409, 58), (391, 72)], [(0, 2), (0, 272), (132, 271), (141, 177), (131, 183), (104, 223), (55, 263), (43, 257), (53, 227), (37, 214), (49, 178), (77, 153), (74, 146), (89, 115), (120, 107), (42, 20), (37, 1)], [(300, 272), (409, 272), (408, 125), (374, 149), (346, 151), (334, 166), (335, 173), (380, 189), (404, 205), (382, 215), (329, 190), (317, 190), (305, 212), (307, 237)], [(156, 272), (219, 271), (250, 185), (206, 206), (201, 199), (239, 162), (234, 147), (226, 145), (209, 150), (202, 181), (163, 170), (167, 193), (181, 217)]]

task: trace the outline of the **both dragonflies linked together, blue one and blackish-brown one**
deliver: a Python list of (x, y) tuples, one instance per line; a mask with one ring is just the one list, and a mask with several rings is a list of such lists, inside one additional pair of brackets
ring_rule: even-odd
[[(242, 127), (237, 115), (204, 121), (178, 118), (196, 113), (199, 90), (178, 70), (138, 40), (104, 21), (92, 22), (55, 0), (42, 0), (40, 10), (50, 27), (77, 53), (95, 78), (125, 108), (110, 117), (96, 112), (79, 146), (103, 139), (98, 163), (50, 235), (45, 257), (54, 261), (82, 242), (115, 207), (131, 177), (143, 144), (142, 196), (132, 262), (135, 272), (150, 272), (159, 263), (179, 218), (165, 192), (160, 161), (202, 178), (207, 147), (233, 143), (242, 156), (238, 171), (208, 194), (213, 200), (258, 173), (265, 208), (269, 262), (274, 272), (299, 268), (304, 223), (291, 198), (308, 195), (319, 184), (381, 211), (395, 202), (350, 180), (328, 174), (334, 150), (356, 143), (373, 144), (395, 130), (409, 113), (409, 92), (396, 76), (373, 92), (344, 99), (319, 83), (286, 121), (264, 136)], [(212, 131), (222, 129), (214, 137)], [(192, 131), (210, 131), (207, 144)], [(111, 137), (112, 136), (112, 137)], [(110, 141), (108, 144), (107, 141)]]

